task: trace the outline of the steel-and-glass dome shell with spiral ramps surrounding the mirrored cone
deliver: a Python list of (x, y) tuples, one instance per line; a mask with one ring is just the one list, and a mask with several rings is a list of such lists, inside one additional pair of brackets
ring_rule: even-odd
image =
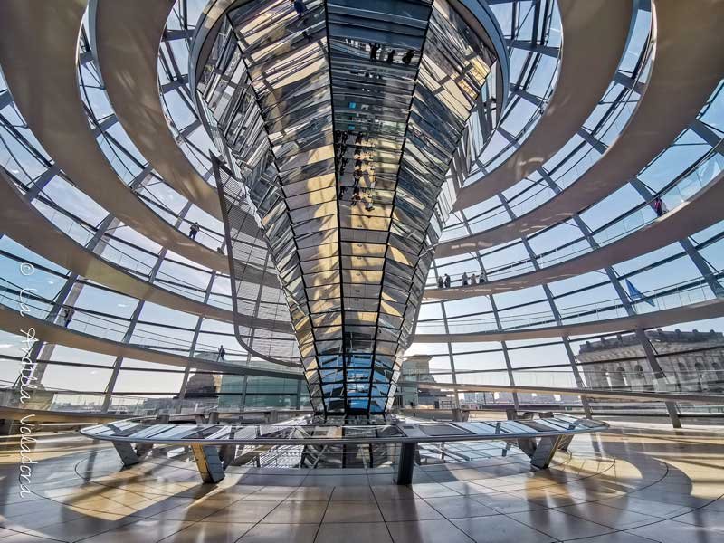
[[(242, 272), (229, 272), (211, 119), (192, 90), (202, 73), (187, 67), (203, 64), (192, 40), (212, 43), (205, 24), (231, 2), (205, 14), (192, 4), (0, 3), (0, 379), (11, 398), (24, 368), (20, 330), (32, 324), (41, 341), (29, 358), (40, 362), (35, 375), (53, 408), (309, 402), (295, 362), (291, 281), (280, 281), (272, 262), (281, 248), (267, 249), (251, 207), (239, 215), (243, 236), (234, 243)], [(310, 14), (323, 9), (305, 5)], [(338, 16), (352, 16), (349, 9)], [(413, 266), (422, 302), (419, 315), (406, 315), (405, 362), (389, 353), (387, 369), (402, 363), (410, 384), (396, 401), (576, 402), (488, 394), (486, 385), (720, 392), (724, 38), (716, 24), (724, 5), (496, 0), (485, 13), (501, 31), (488, 46), (506, 48), (507, 68), (489, 76), (443, 171), (452, 213), (443, 220), (435, 209), (440, 243), (434, 258), (428, 252)], [(43, 33), (27, 32), (30, 21)], [(320, 60), (333, 85), (343, 73), (336, 58)], [(393, 70), (404, 71), (399, 54), (395, 61)], [(324, 100), (335, 119), (362, 105), (341, 94)], [(330, 123), (317, 153), (339, 143)], [(339, 221), (356, 212), (369, 219), (361, 205), (338, 203), (339, 158), (329, 155), (325, 173), (334, 180), (318, 191), (331, 197), (314, 205), (331, 203)], [(236, 173), (247, 176), (244, 167)], [(262, 196), (252, 192), (251, 204), (267, 213)], [(433, 196), (423, 205), (429, 213)], [(654, 209), (659, 199), (667, 213)], [(338, 269), (355, 269), (337, 246), (330, 256)], [(438, 289), (445, 274), (451, 287)], [(21, 316), (24, 289), (35, 291)], [(187, 394), (190, 378), (209, 373), (224, 375), (217, 395)], [(468, 388), (425, 395), (415, 379)]]

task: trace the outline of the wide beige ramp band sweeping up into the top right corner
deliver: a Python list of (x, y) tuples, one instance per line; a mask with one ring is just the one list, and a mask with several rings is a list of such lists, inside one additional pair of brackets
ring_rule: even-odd
[(572, 186), (528, 214), (498, 227), (441, 243), (438, 257), (478, 251), (529, 236), (614, 193), (661, 153), (695, 119), (724, 76), (724, 2), (701, 0), (697, 9), (658, 0), (651, 76), (624, 131)]

